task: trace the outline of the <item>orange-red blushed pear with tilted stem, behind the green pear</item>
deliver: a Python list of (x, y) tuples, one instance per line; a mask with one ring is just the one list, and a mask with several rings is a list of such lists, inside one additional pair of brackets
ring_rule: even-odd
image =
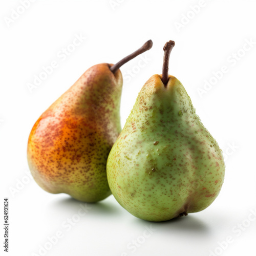
[(86, 202), (111, 195), (106, 160), (121, 132), (119, 68), (152, 44), (148, 40), (116, 65), (89, 68), (39, 117), (29, 135), (27, 157), (41, 188)]

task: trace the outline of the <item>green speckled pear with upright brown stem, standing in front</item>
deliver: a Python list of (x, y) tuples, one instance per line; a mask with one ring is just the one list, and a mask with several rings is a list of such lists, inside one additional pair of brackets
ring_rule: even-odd
[(208, 207), (224, 180), (222, 151), (202, 124), (181, 82), (163, 75), (142, 87), (110, 152), (107, 176), (116, 200), (132, 215), (167, 221)]

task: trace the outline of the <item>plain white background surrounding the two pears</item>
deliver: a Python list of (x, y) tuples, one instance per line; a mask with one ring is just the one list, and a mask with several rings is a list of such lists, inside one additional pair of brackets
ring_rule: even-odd
[[(191, 9), (201, 2), (41, 0), (15, 16), (20, 2), (1, 1), (1, 200), (8, 197), (10, 205), (8, 255), (255, 255), (256, 1), (205, 0), (199, 11)], [(86, 39), (73, 49), (76, 34)], [(149, 59), (144, 67), (136, 67), (139, 57), (121, 67), (122, 126), (144, 82), (161, 74), (163, 45), (175, 40), (169, 73), (181, 80), (223, 150), (223, 188), (207, 209), (164, 223), (135, 218), (113, 196), (88, 204), (80, 217), (80, 202), (47, 193), (26, 173), (30, 130), (89, 67), (115, 63), (148, 39), (154, 46), (143, 54)], [(67, 47), (74, 51), (64, 59), (59, 52)], [(28, 83), (54, 60), (58, 67), (30, 92)], [(223, 66), (228, 71), (216, 82), (213, 72)], [(200, 96), (205, 80), (215, 84)], [(56, 232), (62, 237), (52, 245)]]

